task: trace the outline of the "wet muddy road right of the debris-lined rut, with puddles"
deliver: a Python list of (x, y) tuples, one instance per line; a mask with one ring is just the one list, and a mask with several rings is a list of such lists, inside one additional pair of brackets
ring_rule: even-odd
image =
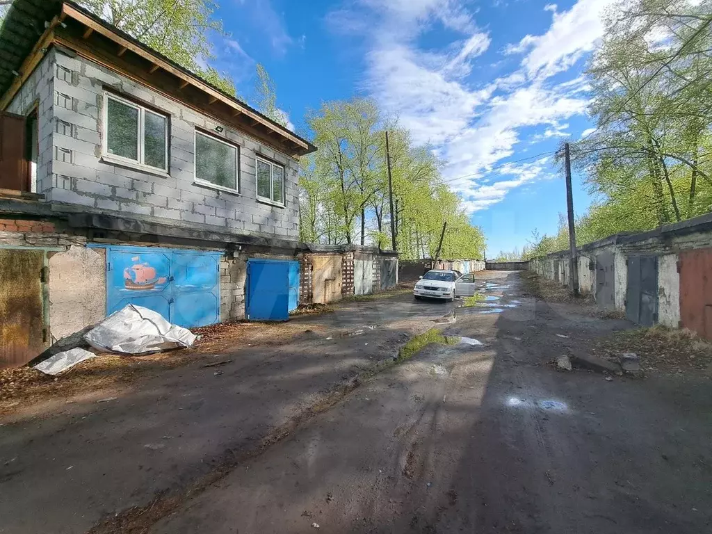
[(377, 375), (150, 532), (712, 532), (709, 380), (557, 372), (630, 325), (490, 282), (498, 298), (445, 330), (469, 339)]

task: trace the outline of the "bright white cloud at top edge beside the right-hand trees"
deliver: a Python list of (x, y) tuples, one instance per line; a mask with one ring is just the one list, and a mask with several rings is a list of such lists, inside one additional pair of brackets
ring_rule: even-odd
[[(602, 12), (612, 0), (579, 0), (569, 11), (558, 12), (552, 4), (553, 22), (540, 36), (524, 36), (517, 44), (508, 45), (506, 53), (528, 52), (522, 66), (530, 77), (551, 76), (567, 70), (593, 50), (603, 34)], [(554, 6), (555, 7), (555, 6)]]

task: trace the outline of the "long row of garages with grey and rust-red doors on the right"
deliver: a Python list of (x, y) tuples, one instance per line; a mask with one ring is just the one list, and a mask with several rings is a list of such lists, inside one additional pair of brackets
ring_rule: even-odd
[[(712, 340), (712, 215), (642, 234), (617, 234), (578, 252), (581, 293), (642, 326), (687, 328)], [(567, 286), (567, 251), (530, 268)]]

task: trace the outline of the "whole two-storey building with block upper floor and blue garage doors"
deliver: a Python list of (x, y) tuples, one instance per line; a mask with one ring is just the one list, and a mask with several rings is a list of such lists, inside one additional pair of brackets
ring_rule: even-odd
[(11, 7), (0, 111), (2, 365), (127, 303), (188, 327), (296, 305), (308, 141), (61, 0)]

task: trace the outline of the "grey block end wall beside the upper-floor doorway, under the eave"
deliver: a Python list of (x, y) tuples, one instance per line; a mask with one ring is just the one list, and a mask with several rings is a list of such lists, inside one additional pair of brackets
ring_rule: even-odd
[(52, 187), (53, 147), (53, 107), (54, 107), (54, 58), (51, 50), (40, 61), (29, 78), (8, 105), (8, 112), (27, 116), (37, 108), (38, 152), (37, 152), (37, 193), (45, 193)]

